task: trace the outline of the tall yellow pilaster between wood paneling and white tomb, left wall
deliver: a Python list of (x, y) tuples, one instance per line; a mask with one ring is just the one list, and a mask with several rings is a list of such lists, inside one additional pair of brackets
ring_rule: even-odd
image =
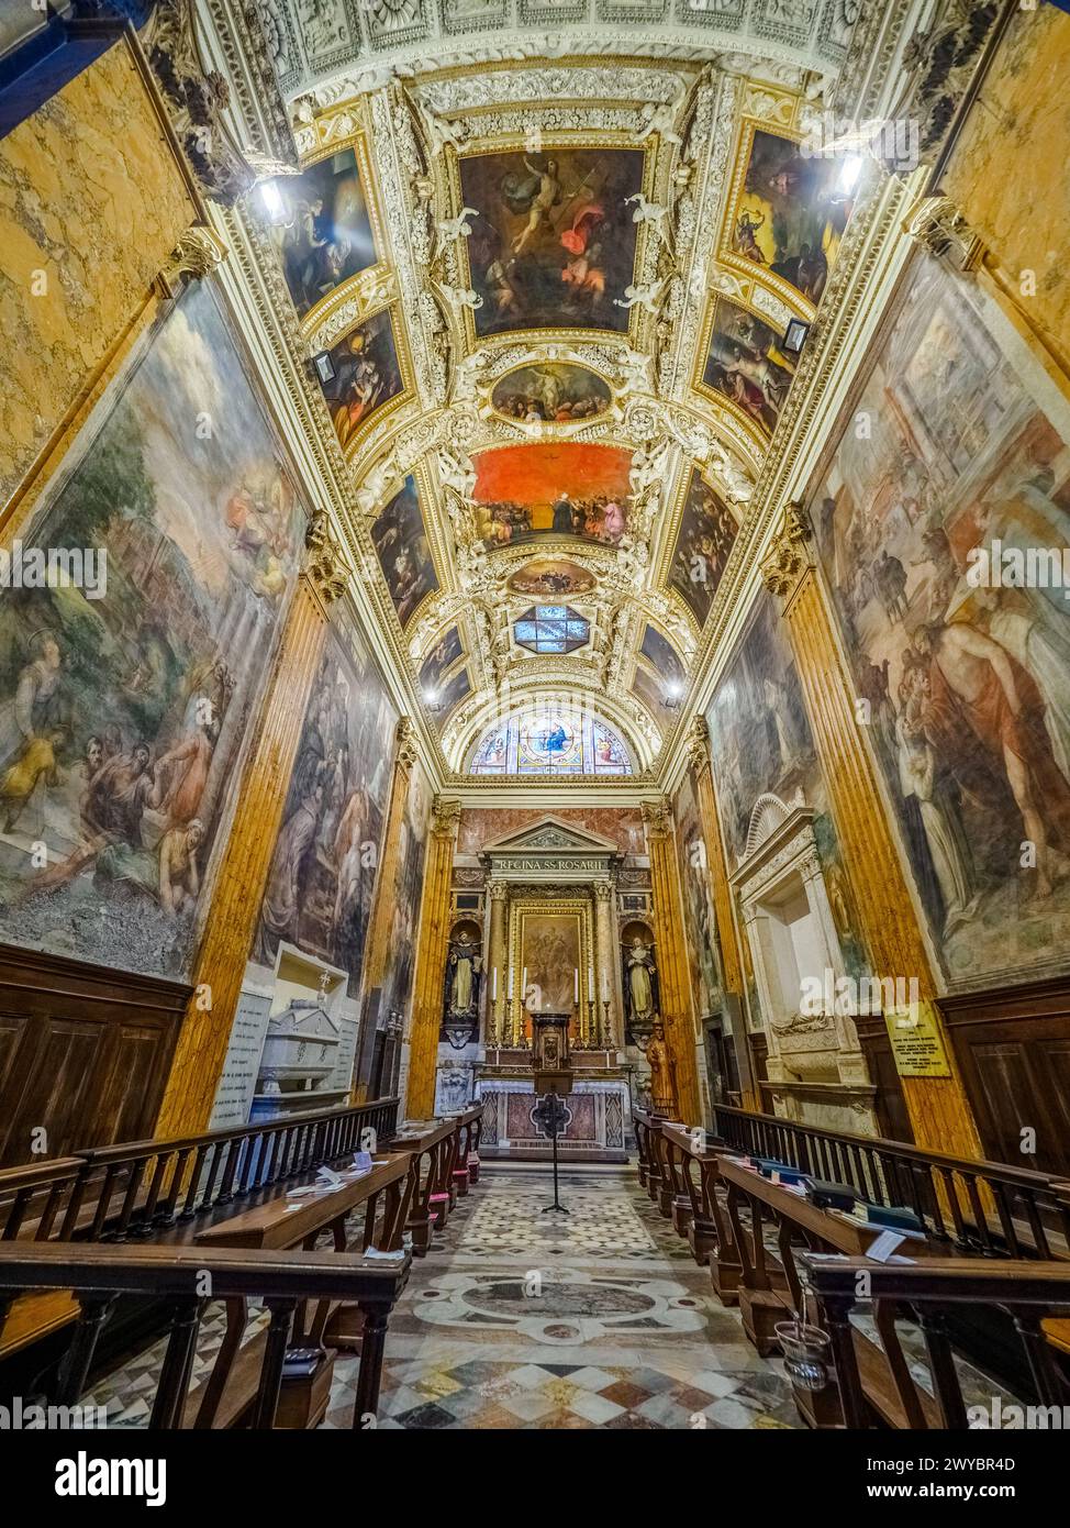
[(346, 584), (348, 570), (322, 510), (308, 524), (305, 545), (307, 564), (290, 604), (215, 877), (194, 969), (194, 996), (160, 1103), (157, 1137), (197, 1135), (208, 1129), (282, 822), (290, 770), (324, 651), (330, 607)]

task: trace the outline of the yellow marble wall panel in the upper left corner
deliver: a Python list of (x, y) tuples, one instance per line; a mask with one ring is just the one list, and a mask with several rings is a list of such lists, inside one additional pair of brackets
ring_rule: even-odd
[(0, 139), (3, 504), (73, 419), (203, 215), (134, 49), (116, 43)]

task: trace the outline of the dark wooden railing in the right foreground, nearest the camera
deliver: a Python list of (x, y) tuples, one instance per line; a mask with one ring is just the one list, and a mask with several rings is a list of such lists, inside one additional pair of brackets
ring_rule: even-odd
[[(1070, 1267), (1065, 1262), (989, 1262), (988, 1259), (925, 1259), (916, 1264), (875, 1264), (867, 1258), (833, 1262), (800, 1256), (817, 1296), (821, 1320), (832, 1339), (835, 1378), (847, 1427), (873, 1423), (858, 1363), (858, 1332), (852, 1311), (859, 1288), (885, 1313), (902, 1314), (922, 1329), (939, 1409), (940, 1427), (965, 1429), (969, 1415), (952, 1358), (949, 1322), (956, 1313), (1000, 1306), (1014, 1322), (1024, 1349), (1033, 1392), (1043, 1407), (1070, 1406), (1070, 1377), (1053, 1345), (1052, 1323), (1070, 1316)], [(893, 1368), (904, 1409), (910, 1409), (913, 1380), (907, 1365)], [(925, 1426), (916, 1421), (914, 1426)], [(998, 1423), (989, 1423), (998, 1426)], [(1047, 1426), (1043, 1423), (1039, 1426)], [(1053, 1423), (1062, 1427), (1062, 1420)]]

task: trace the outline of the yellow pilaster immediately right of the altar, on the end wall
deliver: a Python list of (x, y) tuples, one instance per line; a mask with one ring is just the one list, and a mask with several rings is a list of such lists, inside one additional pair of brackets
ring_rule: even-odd
[(695, 1022), (691, 1019), (690, 976), (682, 946), (684, 905), (681, 900), (676, 845), (673, 843), (669, 802), (644, 801), (643, 821), (650, 853), (653, 921), (658, 940), (661, 1022), (675, 1082), (675, 1109), (690, 1125), (701, 1118), (699, 1079), (695, 1065)]

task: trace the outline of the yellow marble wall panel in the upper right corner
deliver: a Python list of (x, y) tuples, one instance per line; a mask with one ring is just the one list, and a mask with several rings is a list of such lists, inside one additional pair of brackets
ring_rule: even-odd
[[(1053, 6), (1021, 9), (940, 180), (988, 246), (1000, 284), (1064, 368), (1070, 368), (1068, 72), (1070, 15)], [(1027, 272), (1035, 272), (1035, 293)]]

